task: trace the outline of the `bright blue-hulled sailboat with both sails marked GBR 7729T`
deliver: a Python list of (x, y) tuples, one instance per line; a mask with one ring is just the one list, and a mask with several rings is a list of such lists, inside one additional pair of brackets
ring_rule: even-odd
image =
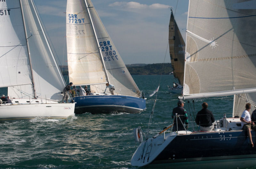
[[(66, 12), (69, 81), (90, 85), (91, 95), (76, 96), (75, 113), (138, 113), (146, 109), (142, 92), (103, 26), (90, 0), (68, 0)], [(115, 94), (105, 92), (106, 83)]]

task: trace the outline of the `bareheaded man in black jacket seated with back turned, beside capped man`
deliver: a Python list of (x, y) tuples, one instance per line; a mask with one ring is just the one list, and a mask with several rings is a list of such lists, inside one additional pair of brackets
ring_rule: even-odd
[(204, 102), (202, 104), (202, 110), (196, 115), (196, 124), (200, 126), (201, 131), (212, 131), (214, 126), (212, 123), (215, 121), (213, 114), (207, 109), (208, 104)]

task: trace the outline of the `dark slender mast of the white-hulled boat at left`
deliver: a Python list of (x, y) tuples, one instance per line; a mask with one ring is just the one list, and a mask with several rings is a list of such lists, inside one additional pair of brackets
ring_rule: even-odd
[(34, 81), (34, 76), (33, 76), (32, 61), (31, 61), (31, 56), (30, 56), (30, 49), (29, 49), (29, 44), (28, 44), (28, 34), (27, 34), (27, 31), (26, 31), (27, 29), (26, 29), (25, 18), (24, 18), (24, 14), (23, 14), (23, 6), (22, 6), (21, 0), (20, 0), (20, 10), (21, 10), (24, 32), (25, 32), (26, 43), (27, 43), (27, 49), (28, 49), (28, 59), (29, 59), (29, 66), (30, 66), (30, 72), (31, 72), (33, 97), (36, 99), (36, 89), (35, 89), (35, 81)]

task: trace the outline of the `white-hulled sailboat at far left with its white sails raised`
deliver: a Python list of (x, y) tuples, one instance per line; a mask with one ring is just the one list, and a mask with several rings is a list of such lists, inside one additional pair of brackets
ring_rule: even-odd
[(0, 6), (0, 87), (8, 87), (10, 98), (0, 104), (0, 121), (73, 115), (74, 103), (58, 103), (65, 82), (34, 2), (6, 0)]

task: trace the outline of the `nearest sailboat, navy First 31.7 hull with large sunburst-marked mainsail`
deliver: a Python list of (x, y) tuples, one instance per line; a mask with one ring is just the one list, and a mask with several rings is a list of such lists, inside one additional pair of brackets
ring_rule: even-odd
[[(235, 95), (233, 117), (223, 115), (209, 132), (191, 132), (184, 128), (184, 131), (166, 134), (163, 130), (140, 144), (132, 156), (132, 165), (168, 164), (173, 168), (256, 165), (256, 149), (251, 147), (240, 121), (246, 100), (252, 104), (252, 110), (256, 106), (253, 101), (255, 9), (255, 1), (189, 1), (184, 89), (179, 99)], [(255, 143), (256, 133), (251, 133)]]

